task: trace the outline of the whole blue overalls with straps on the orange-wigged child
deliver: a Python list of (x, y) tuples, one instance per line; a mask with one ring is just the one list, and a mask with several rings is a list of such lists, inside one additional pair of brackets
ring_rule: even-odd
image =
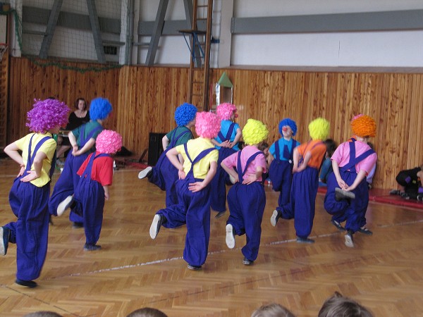
[[(368, 156), (374, 154), (372, 149), (368, 149), (360, 156), (355, 157), (355, 139), (350, 139), (350, 161), (339, 168), (341, 178), (348, 186), (353, 185), (357, 173), (355, 166)], [(364, 215), (369, 205), (369, 187), (367, 186), (366, 178), (352, 191), (355, 194), (355, 199), (342, 199), (336, 201), (335, 188), (339, 187), (334, 173), (331, 173), (328, 178), (328, 189), (324, 197), (324, 209), (332, 215), (332, 218), (339, 223), (346, 220), (345, 229), (356, 232), (363, 225), (365, 225)], [(364, 222), (364, 223), (363, 223)]]

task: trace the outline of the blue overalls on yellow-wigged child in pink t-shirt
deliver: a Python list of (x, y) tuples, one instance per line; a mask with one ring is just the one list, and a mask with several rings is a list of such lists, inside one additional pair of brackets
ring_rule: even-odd
[(245, 234), (247, 236), (247, 244), (241, 251), (250, 261), (255, 261), (259, 254), (266, 194), (264, 193), (262, 182), (252, 182), (249, 185), (244, 185), (242, 182), (247, 167), (259, 154), (263, 154), (263, 152), (257, 151), (252, 154), (243, 170), (240, 159), (241, 151), (238, 152), (237, 170), (239, 182), (235, 182), (228, 192), (230, 215), (226, 224), (231, 223), (235, 230), (235, 235)]

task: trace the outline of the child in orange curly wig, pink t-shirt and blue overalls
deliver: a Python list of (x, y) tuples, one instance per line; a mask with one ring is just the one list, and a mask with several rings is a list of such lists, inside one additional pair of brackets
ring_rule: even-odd
[(367, 144), (369, 137), (376, 135), (373, 118), (362, 114), (355, 116), (351, 128), (354, 137), (339, 145), (331, 157), (333, 173), (329, 175), (328, 190), (324, 197), (324, 208), (333, 216), (332, 223), (333, 220), (336, 223), (347, 221), (347, 247), (354, 247), (354, 232), (364, 231), (369, 234), (366, 232), (364, 217), (369, 205), (366, 176), (377, 160), (376, 153)]

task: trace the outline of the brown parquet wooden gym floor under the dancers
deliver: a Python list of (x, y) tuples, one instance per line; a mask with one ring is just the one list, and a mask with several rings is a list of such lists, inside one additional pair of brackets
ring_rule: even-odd
[[(18, 168), (0, 161), (0, 223), (15, 220), (8, 190)], [(58, 175), (55, 175), (54, 182)], [(235, 249), (225, 244), (226, 218), (212, 218), (209, 256), (202, 271), (183, 261), (185, 226), (162, 228), (149, 237), (155, 211), (164, 206), (164, 192), (137, 170), (116, 170), (111, 199), (106, 201), (99, 244), (87, 252), (84, 231), (74, 229), (65, 214), (54, 218), (39, 287), (14, 283), (16, 246), (0, 258), (0, 316), (56, 311), (62, 316), (126, 316), (149, 306), (168, 316), (250, 316), (262, 304), (277, 302), (296, 316), (317, 316), (338, 291), (367, 306), (374, 316), (423, 316), (423, 212), (371, 203), (367, 211), (373, 236), (355, 235), (356, 247), (329, 222), (323, 198), (311, 237), (295, 242), (293, 220), (269, 221), (278, 194), (266, 187), (262, 244), (253, 266), (244, 266), (236, 237)]]

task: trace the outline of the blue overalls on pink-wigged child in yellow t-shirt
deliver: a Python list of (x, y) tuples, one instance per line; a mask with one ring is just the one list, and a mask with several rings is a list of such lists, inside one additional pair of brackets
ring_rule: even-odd
[(183, 259), (192, 266), (202, 266), (207, 258), (210, 239), (210, 184), (200, 192), (191, 192), (188, 189), (190, 183), (202, 182), (203, 180), (194, 178), (192, 169), (214, 147), (205, 149), (192, 160), (188, 154), (187, 144), (184, 144), (185, 153), (191, 162), (191, 169), (185, 179), (176, 182), (178, 192), (178, 204), (160, 209), (157, 213), (166, 218), (163, 223), (164, 228), (177, 228), (187, 225), (187, 235), (185, 237), (185, 249)]

